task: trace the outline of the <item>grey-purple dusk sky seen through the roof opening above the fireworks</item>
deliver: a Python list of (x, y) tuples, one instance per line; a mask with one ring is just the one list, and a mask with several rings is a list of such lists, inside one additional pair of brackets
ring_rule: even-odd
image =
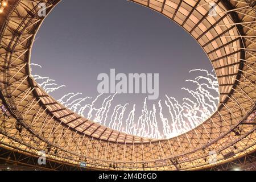
[[(197, 76), (191, 69), (212, 65), (199, 44), (177, 24), (155, 11), (121, 0), (63, 0), (46, 18), (33, 47), (32, 74), (48, 76), (69, 92), (96, 97), (97, 76), (117, 73), (159, 73), (159, 100), (181, 100)], [(142, 105), (147, 94), (122, 94), (118, 102)], [(157, 102), (156, 100), (155, 102)]]

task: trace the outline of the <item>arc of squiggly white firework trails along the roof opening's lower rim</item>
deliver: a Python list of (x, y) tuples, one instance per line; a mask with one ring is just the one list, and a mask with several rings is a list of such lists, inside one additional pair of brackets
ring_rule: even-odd
[[(40, 65), (32, 64), (41, 68)], [(187, 96), (181, 102), (175, 97), (165, 96), (156, 104), (148, 105), (144, 98), (141, 112), (136, 105), (117, 104), (119, 94), (99, 94), (96, 98), (81, 97), (82, 93), (68, 93), (58, 101), (60, 104), (114, 130), (148, 138), (171, 138), (183, 134), (204, 122), (217, 109), (218, 81), (214, 73), (204, 69), (189, 71), (198, 73), (194, 79), (186, 80), (194, 89), (181, 88)], [(204, 76), (206, 75), (206, 76)], [(55, 92), (65, 85), (39, 75), (33, 76), (47, 93)], [(99, 104), (100, 103), (100, 104)], [(138, 116), (137, 116), (138, 114)]]

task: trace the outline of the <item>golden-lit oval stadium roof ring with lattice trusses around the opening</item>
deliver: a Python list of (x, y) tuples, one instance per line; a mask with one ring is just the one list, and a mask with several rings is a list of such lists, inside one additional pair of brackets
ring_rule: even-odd
[[(137, 137), (59, 104), (30, 74), (36, 32), (60, 0), (9, 0), (0, 15), (0, 143), (69, 165), (115, 170), (197, 170), (255, 151), (256, 9), (253, 0), (134, 0), (183, 27), (207, 53), (220, 103), (203, 124), (170, 139)], [(159, 27), (160, 28), (160, 27)], [(214, 156), (214, 158), (213, 158)], [(213, 160), (214, 159), (214, 160)]]

